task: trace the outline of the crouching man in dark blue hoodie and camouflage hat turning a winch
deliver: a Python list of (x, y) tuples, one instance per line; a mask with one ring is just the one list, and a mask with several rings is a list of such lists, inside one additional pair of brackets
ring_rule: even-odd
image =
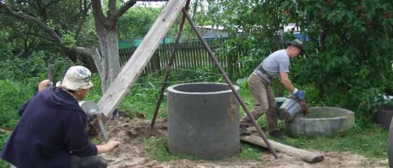
[(93, 145), (86, 134), (86, 115), (78, 100), (93, 86), (83, 66), (67, 70), (60, 87), (45, 88), (19, 109), (20, 120), (0, 157), (18, 168), (107, 167), (98, 154), (111, 151), (119, 142)]

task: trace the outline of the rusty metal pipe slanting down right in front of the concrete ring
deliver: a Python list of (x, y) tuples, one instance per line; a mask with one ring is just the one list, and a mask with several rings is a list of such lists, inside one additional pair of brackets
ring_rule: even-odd
[(266, 138), (266, 135), (263, 133), (262, 129), (259, 127), (257, 121), (254, 119), (254, 117), (251, 115), (250, 110), (247, 108), (247, 106), (245, 105), (244, 101), (241, 99), (239, 93), (236, 92), (235, 87), (232, 85), (231, 80), (229, 79), (228, 75), (226, 74), (226, 72), (224, 71), (224, 69), (221, 67), (220, 63), (218, 62), (217, 58), (215, 57), (213, 51), (210, 49), (209, 45), (206, 43), (205, 39), (203, 39), (201, 33), (198, 31), (198, 28), (196, 27), (195, 23), (192, 21), (191, 17), (188, 15), (188, 12), (186, 9), (183, 8), (183, 16), (186, 16), (188, 22), (190, 23), (192, 29), (195, 31), (196, 35), (198, 36), (198, 38), (202, 41), (203, 46), (205, 47), (205, 49), (208, 51), (208, 53), (210, 54), (214, 64), (217, 66), (218, 70), (223, 74), (223, 77), (225, 79), (225, 81), (227, 81), (228, 86), (231, 88), (233, 94), (235, 95), (235, 97), (237, 98), (237, 100), (239, 101), (240, 105), (243, 107), (245, 113), (247, 114), (247, 116), (251, 119), (251, 122), (253, 123), (253, 125), (255, 126), (255, 128), (258, 130), (259, 135), (261, 135), (263, 141), (266, 143), (267, 147), (269, 148), (270, 152), (272, 152), (273, 156), (278, 159), (278, 155), (276, 153), (276, 151), (273, 149), (272, 145), (269, 143), (268, 139)]

